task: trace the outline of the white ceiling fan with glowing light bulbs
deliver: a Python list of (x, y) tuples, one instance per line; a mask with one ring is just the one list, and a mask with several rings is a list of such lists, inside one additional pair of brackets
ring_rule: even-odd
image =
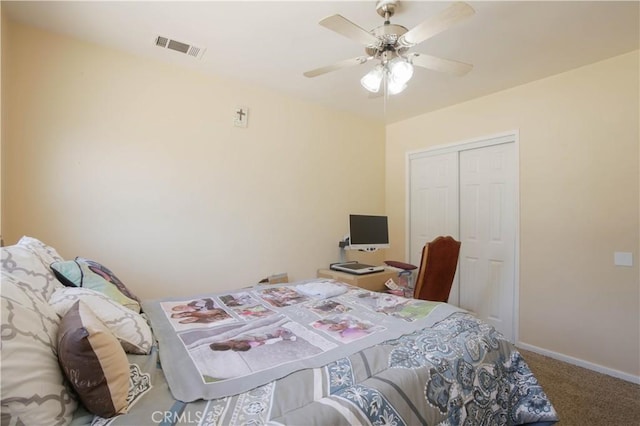
[(409, 52), (413, 46), (471, 17), (475, 14), (471, 6), (464, 2), (453, 3), (445, 10), (408, 30), (402, 25), (392, 24), (389, 21), (398, 5), (398, 0), (379, 0), (376, 11), (384, 18), (384, 24), (371, 31), (366, 31), (342, 15), (332, 15), (321, 20), (319, 24), (323, 27), (364, 45), (366, 55), (316, 68), (305, 72), (304, 75), (317, 77), (341, 68), (378, 60), (379, 63), (362, 77), (360, 83), (369, 92), (378, 93), (382, 86), (386, 94), (394, 95), (407, 87), (407, 83), (413, 76), (413, 65), (455, 75), (464, 75), (471, 71), (473, 65), (470, 64), (424, 53)]

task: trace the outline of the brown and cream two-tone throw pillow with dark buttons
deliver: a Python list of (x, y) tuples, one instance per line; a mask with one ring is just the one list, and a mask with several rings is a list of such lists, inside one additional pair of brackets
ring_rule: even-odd
[(129, 361), (118, 340), (77, 301), (58, 330), (58, 360), (85, 408), (101, 417), (127, 412)]

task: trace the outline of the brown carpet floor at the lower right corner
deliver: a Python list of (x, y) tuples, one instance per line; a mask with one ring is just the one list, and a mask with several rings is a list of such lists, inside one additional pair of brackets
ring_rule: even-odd
[(518, 350), (555, 407), (558, 426), (640, 426), (640, 385)]

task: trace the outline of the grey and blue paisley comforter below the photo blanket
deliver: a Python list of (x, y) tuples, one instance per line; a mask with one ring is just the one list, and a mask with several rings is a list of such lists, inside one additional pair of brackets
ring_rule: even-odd
[(142, 363), (150, 378), (139, 382), (144, 397), (129, 414), (92, 419), (94, 424), (542, 425), (558, 420), (517, 349), (464, 312), (321, 368), (188, 404), (171, 397), (153, 356)]

